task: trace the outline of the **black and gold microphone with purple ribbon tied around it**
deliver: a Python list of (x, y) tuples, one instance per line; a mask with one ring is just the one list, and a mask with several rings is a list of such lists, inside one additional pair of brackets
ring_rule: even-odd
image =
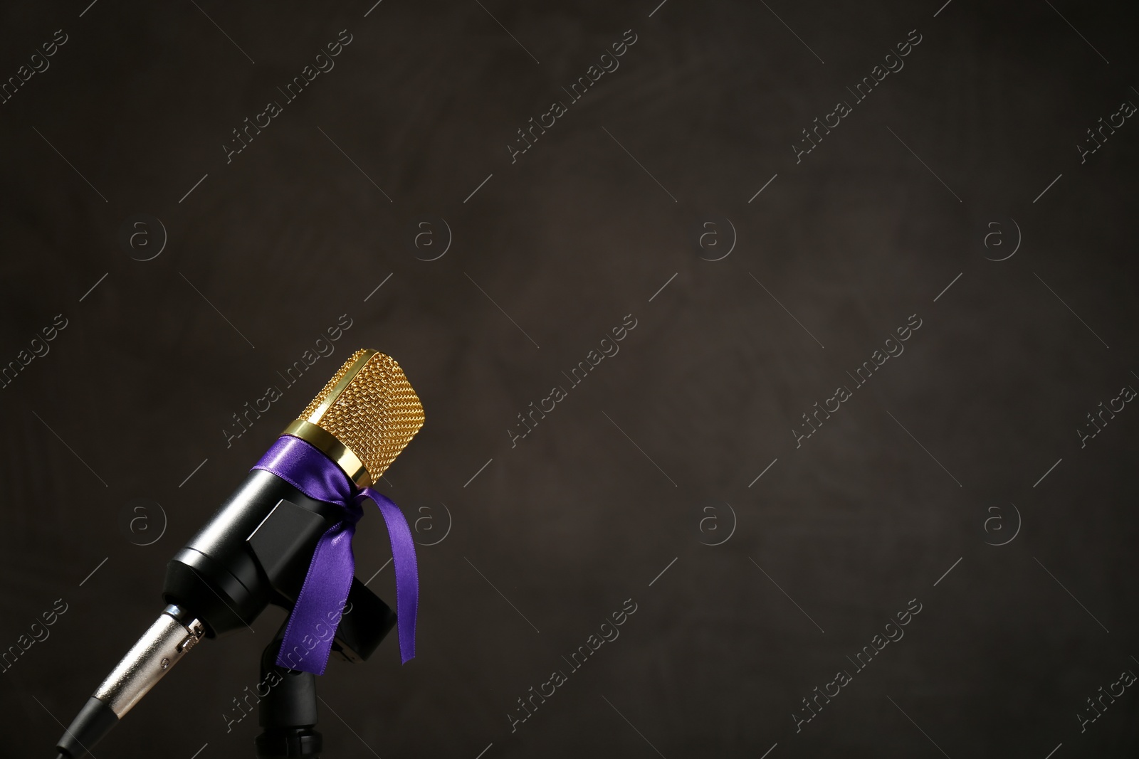
[[(64, 732), (56, 744), (58, 759), (87, 754), (203, 637), (249, 627), (270, 603), (293, 610), (279, 665), (320, 674), (329, 650), (351, 661), (367, 659), (395, 616), (352, 576), (352, 530), (364, 497), (379, 505), (391, 534), (401, 652), (404, 661), (413, 655), (418, 596), (413, 543), (395, 504), (369, 486), (423, 423), (423, 405), (395, 360), (376, 350), (352, 354), (166, 566), (166, 608)], [(336, 494), (329, 496), (329, 488)], [(331, 571), (318, 567), (321, 554), (327, 561), (337, 551), (342, 560), (346, 551), (346, 560)], [(328, 591), (328, 577), (337, 572), (342, 586)], [(321, 641), (322, 653), (308, 643), (295, 646), (302, 660), (308, 658), (297, 665), (295, 653), (285, 652), (294, 626), (297, 636), (305, 633), (309, 612), (320, 607), (321, 594), (344, 599), (341, 591), (346, 592), (342, 613), (335, 619), (328, 614), (335, 635), (329, 630), (328, 640)], [(308, 616), (300, 613), (302, 607)], [(404, 640), (408, 628), (410, 641)], [(304, 635), (305, 641), (310, 637)]]

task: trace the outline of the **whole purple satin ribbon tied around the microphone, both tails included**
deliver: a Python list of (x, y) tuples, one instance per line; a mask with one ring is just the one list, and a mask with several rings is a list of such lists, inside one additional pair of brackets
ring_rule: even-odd
[(301, 438), (289, 435), (277, 438), (253, 469), (272, 472), (310, 498), (333, 503), (344, 510), (341, 521), (328, 528), (312, 553), (309, 574), (305, 575), (304, 585), (301, 586), (285, 628), (277, 665), (313, 675), (325, 674), (336, 625), (355, 574), (352, 536), (355, 534), (355, 523), (363, 515), (361, 504), (369, 498), (379, 506), (392, 541), (400, 655), (403, 663), (415, 658), (419, 575), (411, 528), (400, 508), (370, 487), (358, 488), (331, 459)]

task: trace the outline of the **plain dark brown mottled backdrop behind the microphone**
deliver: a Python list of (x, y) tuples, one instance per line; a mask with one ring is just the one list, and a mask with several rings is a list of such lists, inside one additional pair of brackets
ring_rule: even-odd
[[(375, 347), (427, 414), (386, 492), (434, 515), (425, 543), (440, 504), (453, 523), (419, 550), (417, 659), (393, 638), (321, 678), (328, 757), (1134, 756), (1133, 688), (1085, 733), (1075, 718), (1139, 670), (1139, 411), (1083, 449), (1075, 434), (1139, 387), (1139, 125), (1083, 165), (1074, 148), (1139, 102), (1129, 8), (198, 5), (0, 15), (3, 77), (69, 36), (0, 106), (0, 362), (68, 319), (0, 391), (0, 647), (69, 607), (0, 677), (0, 754), (54, 756), (55, 718), (161, 610), (165, 561)], [(230, 130), (343, 28), (335, 69), (227, 165)], [(515, 130), (628, 28), (620, 69), (511, 165)], [(912, 28), (904, 69), (796, 165), (800, 130)], [(169, 233), (145, 263), (118, 241), (138, 213)], [(453, 232), (439, 261), (409, 248), (420, 214)], [(722, 218), (738, 242), (702, 259)], [(1019, 250), (986, 261), (1013, 220)], [(990, 222), (1006, 247), (984, 247)], [(230, 414), (344, 313), (335, 356), (227, 449)], [(511, 449), (515, 414), (630, 313), (621, 353)], [(906, 353), (796, 449), (800, 414), (915, 313)], [(118, 527), (140, 497), (169, 517), (146, 547)], [(1010, 503), (1019, 534), (986, 545)], [(702, 545), (728, 534), (724, 504), (735, 534)], [(362, 578), (388, 559), (376, 515), (355, 546)], [(393, 600), (390, 568), (372, 587)], [(621, 637), (511, 734), (516, 699), (630, 597)], [(910, 599), (906, 637), (796, 734), (800, 700)], [(227, 734), (222, 713), (280, 618), (202, 645), (96, 756), (253, 756), (255, 720)]]

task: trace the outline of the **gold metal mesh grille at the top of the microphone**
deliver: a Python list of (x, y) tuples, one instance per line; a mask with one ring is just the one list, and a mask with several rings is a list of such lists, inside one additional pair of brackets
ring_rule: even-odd
[(424, 424), (424, 407), (394, 358), (357, 350), (301, 413), (379, 479)]

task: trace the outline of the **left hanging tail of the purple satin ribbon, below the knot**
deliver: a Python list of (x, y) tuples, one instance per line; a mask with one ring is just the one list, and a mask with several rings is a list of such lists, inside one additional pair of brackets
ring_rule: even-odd
[[(313, 675), (325, 674), (336, 627), (355, 574), (353, 533), (353, 525), (341, 522), (328, 528), (317, 543), (277, 653), (279, 667)], [(334, 601), (339, 607), (329, 611)]]

